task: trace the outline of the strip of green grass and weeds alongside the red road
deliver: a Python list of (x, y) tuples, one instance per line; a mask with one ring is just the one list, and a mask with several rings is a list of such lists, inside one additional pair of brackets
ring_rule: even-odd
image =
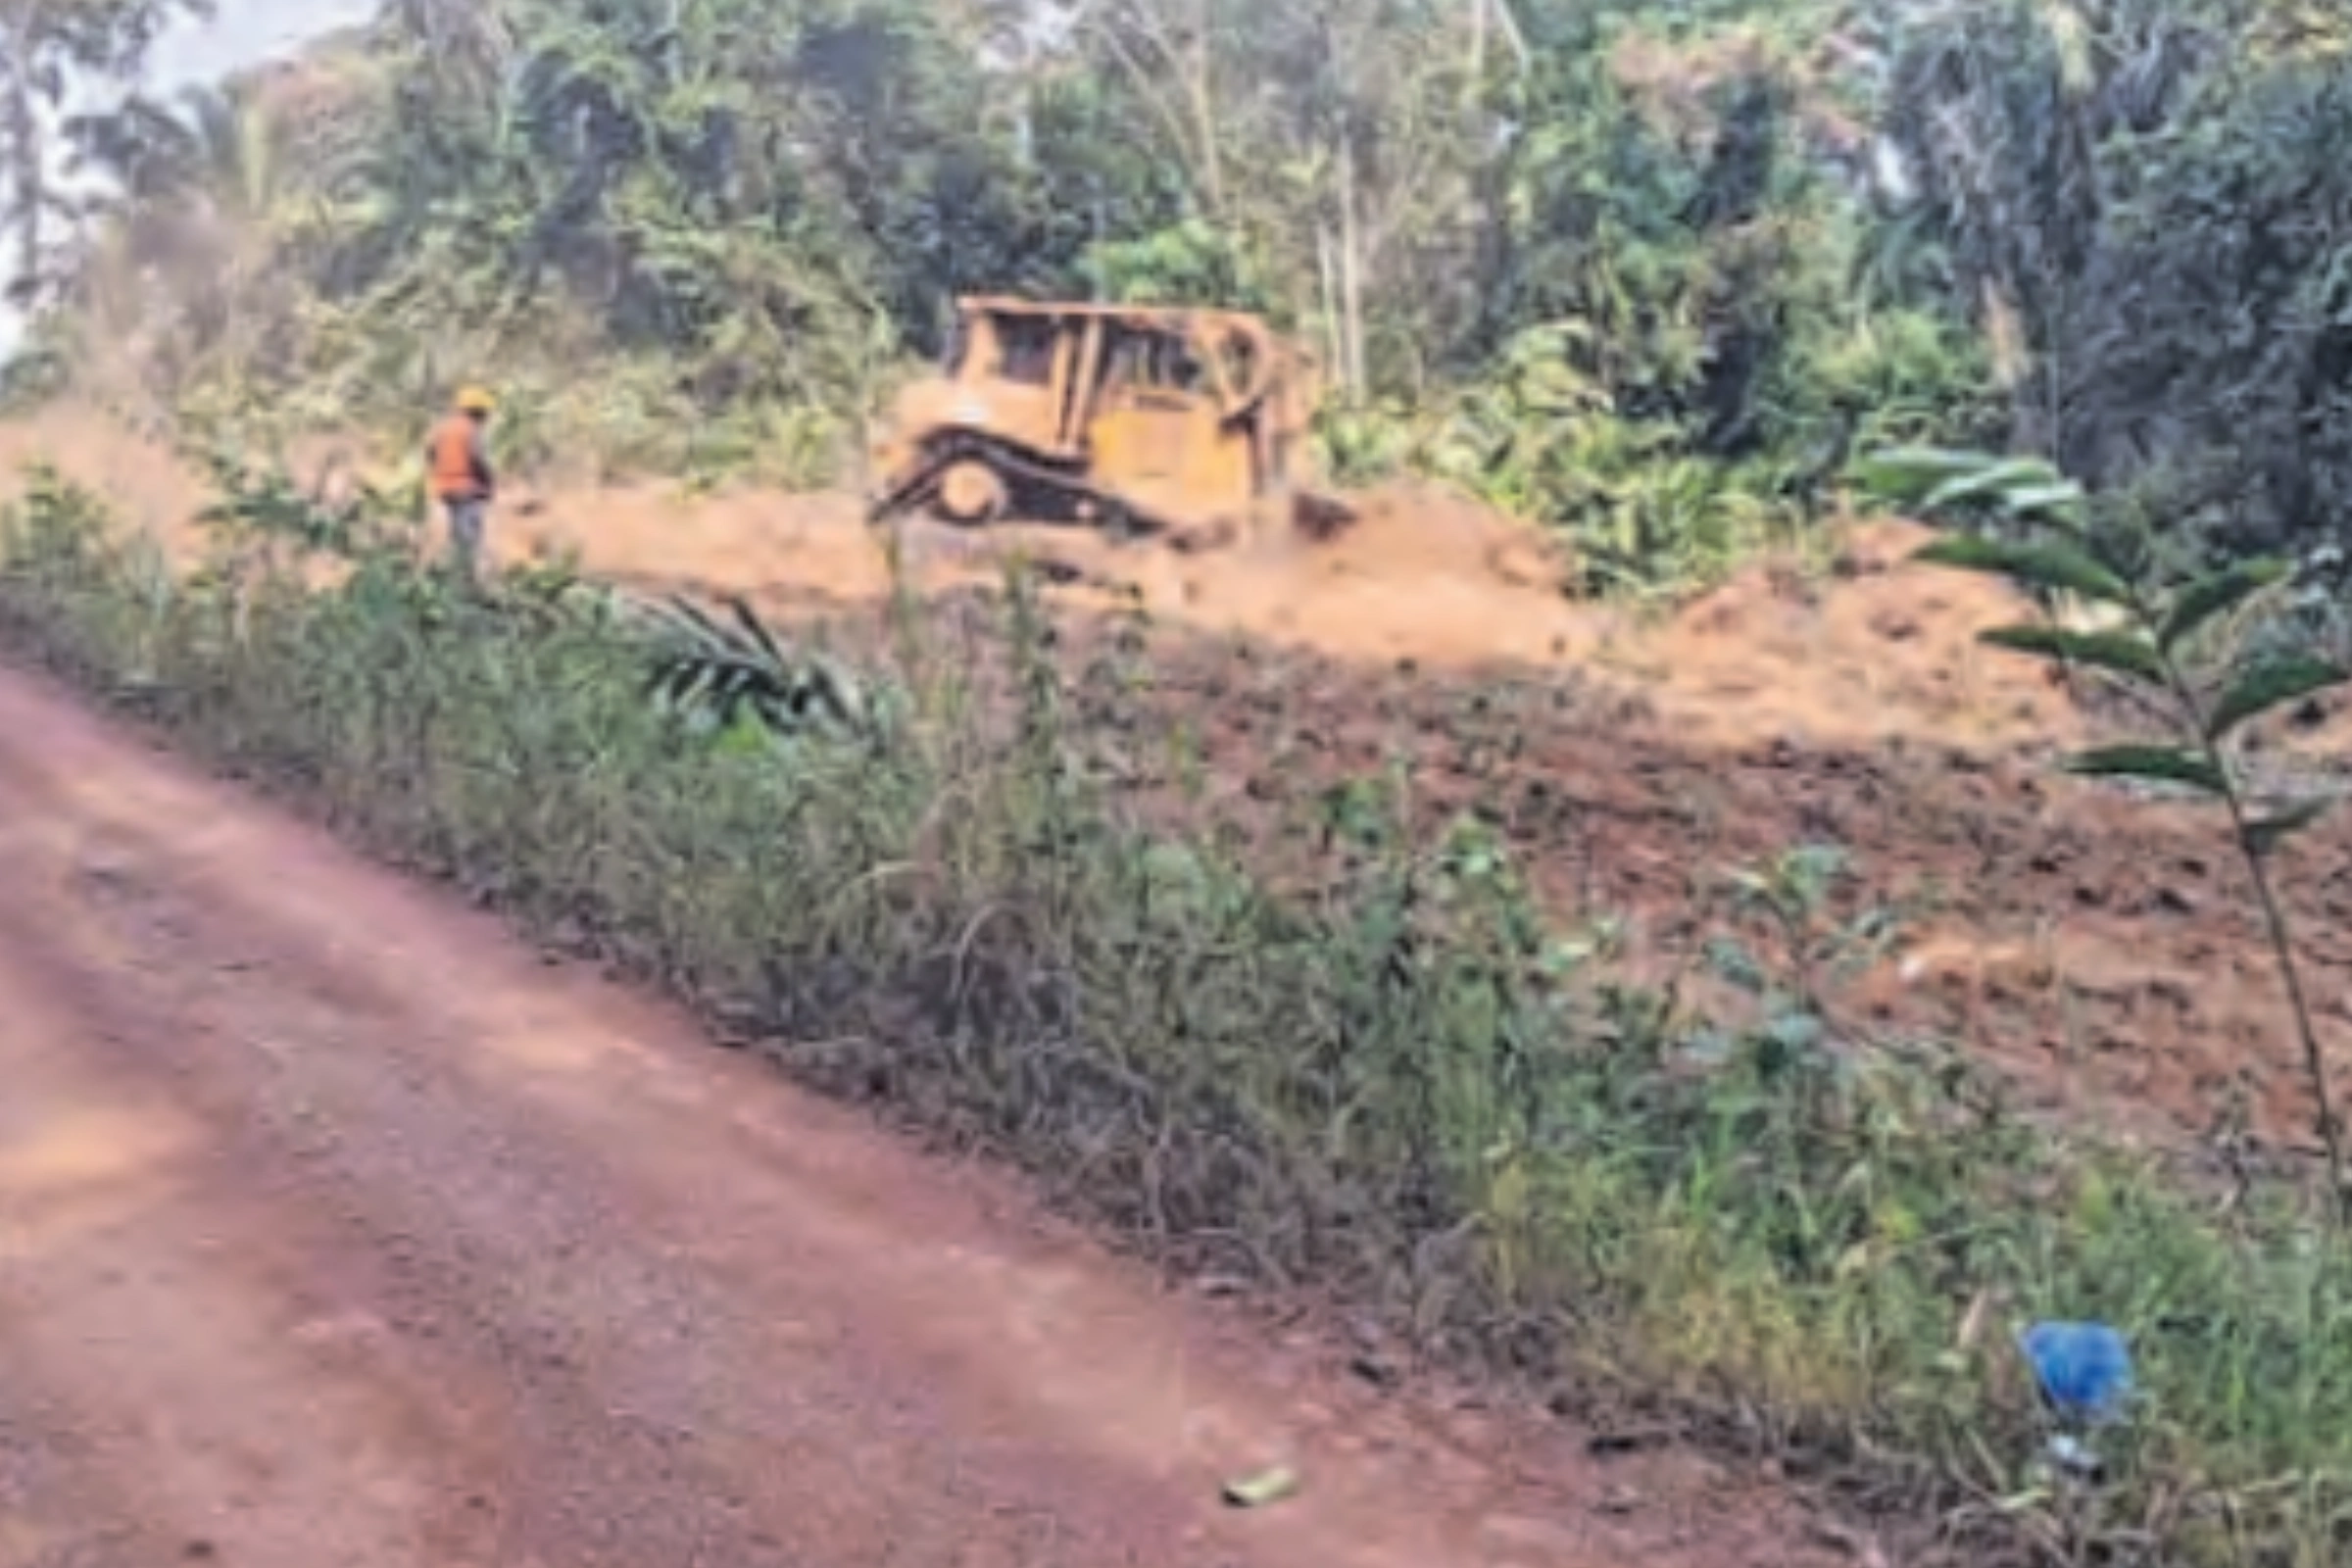
[[(908, 614), (847, 722), (776, 741), (713, 701), (776, 696), (788, 658), (706, 646), (724, 679), (673, 691), (682, 715), (602, 595), (517, 576), (480, 607), (381, 517), (228, 510), (176, 583), (35, 477), (0, 637), (1178, 1267), (1670, 1406), (1940, 1519), (1952, 1561), (2352, 1549), (2352, 1265), (2288, 1190), (2192, 1197), (1795, 999), (1738, 1037), (1668, 1030), (1486, 835), (1416, 842), (1371, 788), (1298, 823), (1308, 893), (1211, 820), (1145, 835), (1089, 783), (1021, 583), (1011, 691)], [(2152, 1399), (2093, 1500), (2032, 1474), (2025, 1316), (2140, 1345)]]

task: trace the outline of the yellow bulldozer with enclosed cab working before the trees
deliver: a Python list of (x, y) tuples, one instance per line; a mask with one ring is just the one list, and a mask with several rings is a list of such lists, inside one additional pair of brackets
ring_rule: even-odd
[(1301, 484), (1317, 395), (1312, 357), (1251, 315), (964, 299), (941, 374), (891, 407), (868, 515), (1327, 534), (1345, 508)]

